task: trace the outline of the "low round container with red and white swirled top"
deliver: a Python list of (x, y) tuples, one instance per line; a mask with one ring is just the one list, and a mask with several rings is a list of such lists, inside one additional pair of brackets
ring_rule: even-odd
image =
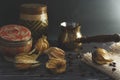
[(29, 52), (32, 47), (31, 32), (21, 25), (5, 25), (0, 28), (0, 52), (9, 58), (23, 52)]

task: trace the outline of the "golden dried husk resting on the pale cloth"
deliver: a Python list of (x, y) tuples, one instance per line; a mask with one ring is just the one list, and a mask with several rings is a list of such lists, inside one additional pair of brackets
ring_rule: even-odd
[(94, 53), (92, 53), (92, 60), (97, 64), (107, 64), (113, 60), (110, 58), (110, 53), (102, 48), (97, 48)]

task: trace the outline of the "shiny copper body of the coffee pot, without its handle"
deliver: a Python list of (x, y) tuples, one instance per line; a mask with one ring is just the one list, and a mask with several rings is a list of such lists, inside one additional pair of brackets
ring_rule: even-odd
[(58, 38), (59, 45), (62, 48), (75, 49), (81, 46), (82, 43), (74, 42), (77, 39), (82, 38), (80, 32), (81, 26), (76, 22), (62, 22), (60, 24), (61, 34)]

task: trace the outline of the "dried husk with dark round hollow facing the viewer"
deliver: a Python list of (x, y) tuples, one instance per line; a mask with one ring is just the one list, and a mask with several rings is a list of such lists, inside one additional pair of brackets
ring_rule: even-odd
[(63, 73), (66, 71), (66, 60), (52, 58), (46, 63), (46, 68), (53, 73)]

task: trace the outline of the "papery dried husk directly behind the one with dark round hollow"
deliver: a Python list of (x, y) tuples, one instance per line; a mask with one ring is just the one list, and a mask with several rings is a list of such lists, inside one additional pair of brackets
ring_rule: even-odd
[(65, 59), (65, 52), (57, 47), (50, 47), (45, 52), (48, 56), (49, 59), (51, 58), (60, 58), (60, 59)]

